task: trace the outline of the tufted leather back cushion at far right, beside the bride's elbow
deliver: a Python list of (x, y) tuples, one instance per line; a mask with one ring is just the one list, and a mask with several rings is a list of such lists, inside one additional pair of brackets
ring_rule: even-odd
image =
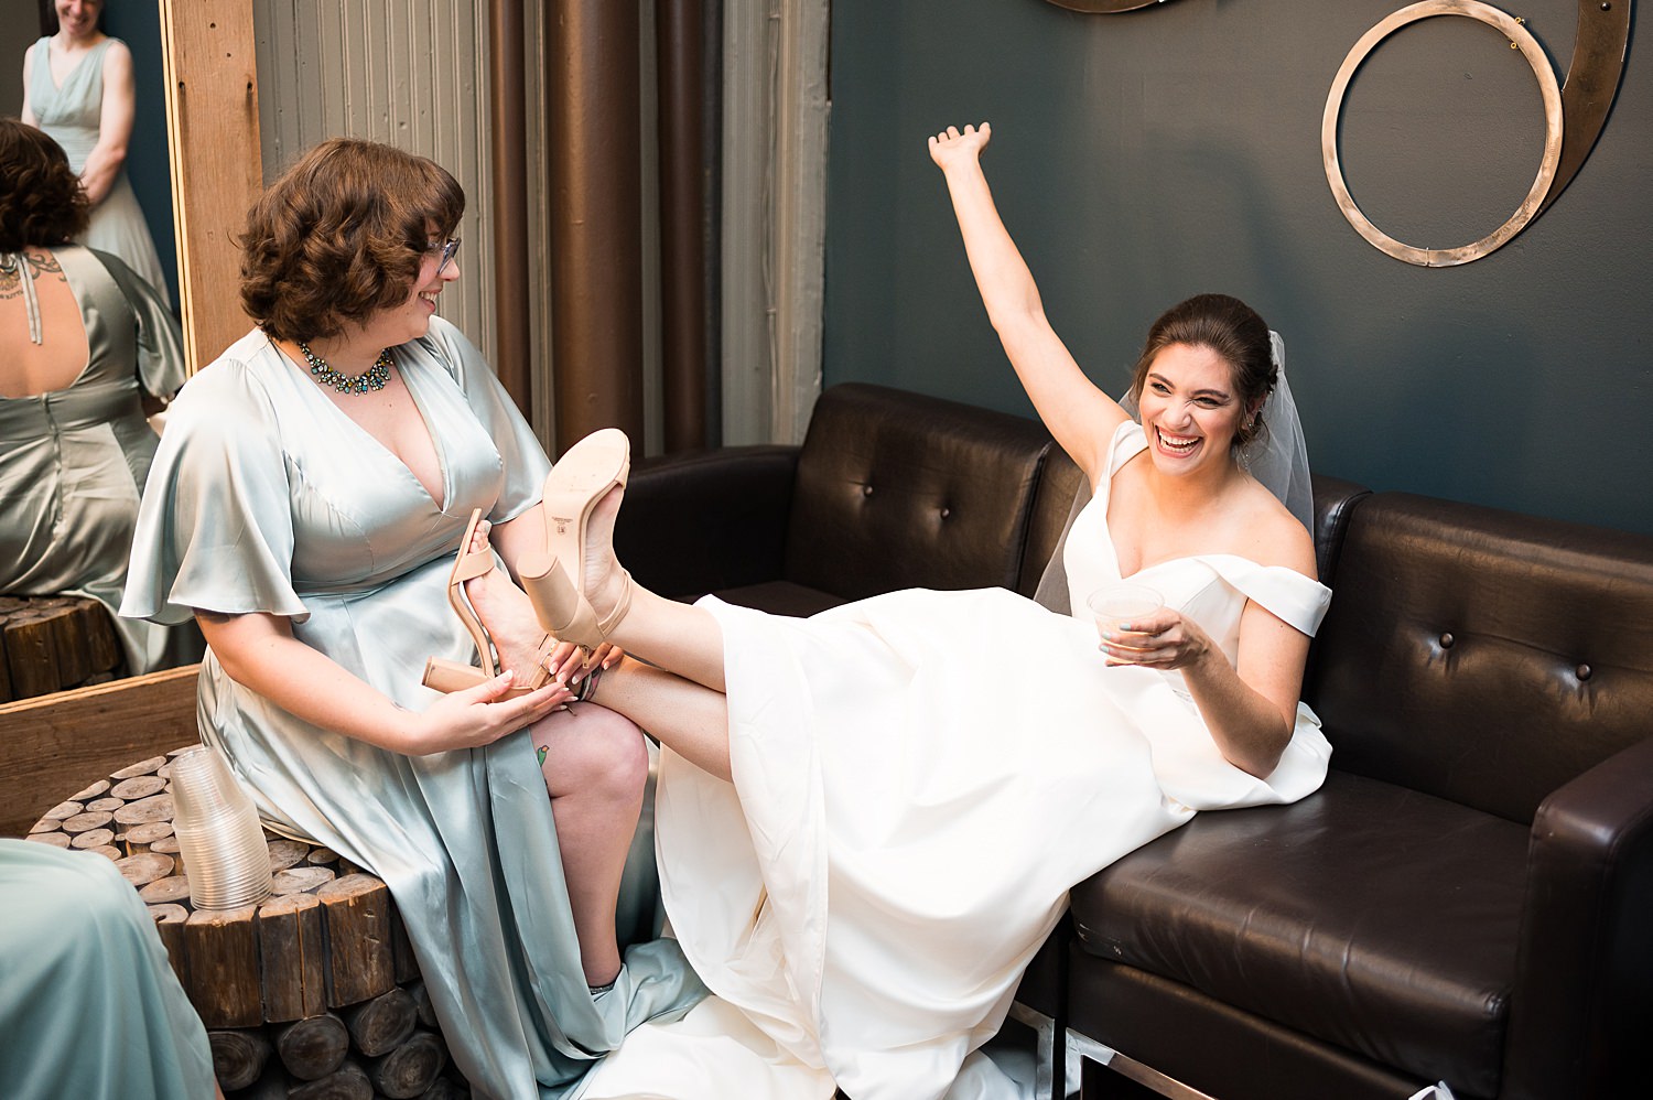
[(1531, 824), (1648, 736), (1653, 538), (1379, 493), (1334, 581), (1304, 698), (1342, 771)]

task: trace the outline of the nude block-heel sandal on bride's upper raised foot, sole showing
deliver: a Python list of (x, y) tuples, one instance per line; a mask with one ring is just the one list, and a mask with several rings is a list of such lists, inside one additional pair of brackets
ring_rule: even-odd
[(603, 428), (569, 448), (545, 475), (545, 548), (517, 562), (517, 577), (539, 625), (564, 642), (597, 648), (631, 609), (631, 574), (622, 569), (620, 600), (602, 619), (585, 599), (585, 529), (592, 509), (631, 473), (631, 442)]

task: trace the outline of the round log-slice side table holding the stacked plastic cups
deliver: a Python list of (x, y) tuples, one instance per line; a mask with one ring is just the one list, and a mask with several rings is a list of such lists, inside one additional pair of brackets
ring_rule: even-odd
[(461, 1100), (390, 890), (329, 849), (264, 832), (271, 897), (195, 910), (172, 830), (170, 758), (46, 811), (28, 839), (114, 860), (207, 1024), (230, 1100)]

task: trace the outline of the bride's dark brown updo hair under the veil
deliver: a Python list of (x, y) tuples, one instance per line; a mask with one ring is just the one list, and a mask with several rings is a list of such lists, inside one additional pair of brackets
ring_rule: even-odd
[[(1131, 372), (1131, 397), (1142, 399), (1147, 371), (1159, 352), (1172, 344), (1210, 347), (1233, 371), (1235, 392), (1250, 412), (1261, 409), (1263, 399), (1274, 390), (1279, 367), (1274, 366), (1274, 347), (1268, 337), (1268, 323), (1256, 309), (1228, 294), (1195, 294), (1160, 314), (1147, 331), (1142, 357)], [(1263, 430), (1261, 415), (1248, 415), (1235, 433), (1235, 445), (1245, 447)]]

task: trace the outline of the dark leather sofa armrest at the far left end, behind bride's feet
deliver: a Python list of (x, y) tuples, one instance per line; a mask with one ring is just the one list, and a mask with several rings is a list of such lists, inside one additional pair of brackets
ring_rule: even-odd
[(785, 576), (798, 448), (719, 447), (636, 463), (615, 551), (661, 595), (703, 595)]

